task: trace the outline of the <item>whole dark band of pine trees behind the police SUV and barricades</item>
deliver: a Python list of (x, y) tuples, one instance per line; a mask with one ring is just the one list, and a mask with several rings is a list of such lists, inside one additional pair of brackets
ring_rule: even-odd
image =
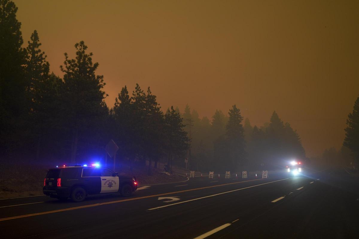
[[(23, 48), (17, 7), (0, 0), (0, 144), (3, 156), (23, 155), (28, 162), (81, 163), (103, 160), (113, 139), (119, 160), (146, 165), (159, 160), (192, 169), (231, 170), (281, 165), (305, 158), (299, 135), (274, 112), (269, 123), (252, 127), (236, 105), (228, 115), (216, 110), (212, 119), (199, 118), (187, 105), (163, 112), (150, 88), (123, 87), (115, 105), (104, 99), (103, 76), (96, 75), (83, 41), (75, 44), (75, 59), (64, 53), (61, 77), (50, 64), (36, 30)], [(6, 157), (3, 157), (6, 158)]]

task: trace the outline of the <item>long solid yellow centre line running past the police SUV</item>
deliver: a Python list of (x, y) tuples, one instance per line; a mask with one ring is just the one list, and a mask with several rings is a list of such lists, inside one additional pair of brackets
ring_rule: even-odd
[[(288, 178), (286, 178), (286, 179), (288, 179)], [(158, 197), (158, 196), (170, 195), (170, 194), (174, 194), (174, 193), (189, 192), (189, 191), (201, 190), (201, 189), (205, 189), (205, 188), (220, 187), (220, 186), (232, 185), (232, 184), (243, 183), (243, 182), (258, 181), (258, 180), (261, 180), (261, 178), (247, 180), (247, 181), (241, 181), (241, 182), (225, 183), (225, 184), (219, 184), (219, 185), (213, 185), (213, 186), (207, 186), (207, 187), (192, 188), (192, 189), (176, 191), (176, 192), (166, 192), (166, 193), (160, 193), (160, 194), (156, 194), (156, 195), (149, 195), (149, 196), (143, 196), (143, 197), (134, 197), (134, 198), (130, 198), (130, 199), (122, 199), (122, 200), (117, 200), (117, 201), (101, 202), (101, 203), (97, 203), (97, 204), (90, 204), (90, 205), (84, 205), (84, 206), (69, 207), (69, 208), (53, 210), (53, 211), (37, 212), (37, 213), (33, 213), (33, 214), (25, 214), (25, 215), (13, 216), (13, 217), (9, 217), (9, 218), (0, 218), (0, 221), (6, 221), (6, 220), (12, 220), (12, 219), (18, 219), (18, 218), (27, 218), (30, 216), (38, 216), (38, 215), (55, 213), (55, 212), (83, 209), (83, 208), (87, 208), (87, 207), (95, 207), (95, 206), (101, 206), (101, 205), (107, 205), (107, 204), (114, 204), (114, 203), (118, 203), (118, 202), (133, 201), (133, 200), (145, 199), (145, 198), (149, 198), (149, 197)]]

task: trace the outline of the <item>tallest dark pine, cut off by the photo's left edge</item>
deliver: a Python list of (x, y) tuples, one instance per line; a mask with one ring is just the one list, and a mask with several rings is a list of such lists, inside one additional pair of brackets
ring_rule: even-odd
[(30, 100), (23, 74), (25, 49), (13, 1), (0, 0), (0, 153), (17, 147), (26, 135)]

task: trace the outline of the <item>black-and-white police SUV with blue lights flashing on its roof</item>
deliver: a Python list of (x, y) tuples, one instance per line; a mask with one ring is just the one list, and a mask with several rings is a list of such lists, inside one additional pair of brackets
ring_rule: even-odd
[(43, 193), (59, 200), (69, 197), (81, 202), (87, 196), (115, 194), (129, 197), (136, 191), (135, 177), (120, 176), (107, 168), (92, 166), (56, 166), (50, 168), (44, 180)]

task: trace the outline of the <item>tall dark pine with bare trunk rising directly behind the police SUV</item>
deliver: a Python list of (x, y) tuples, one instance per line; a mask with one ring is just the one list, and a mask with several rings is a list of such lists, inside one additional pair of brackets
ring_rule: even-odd
[[(66, 123), (72, 133), (71, 163), (76, 162), (79, 135), (97, 127), (95, 119), (103, 113), (107, 96), (102, 91), (102, 75), (95, 75), (99, 64), (92, 63), (92, 53), (87, 54), (87, 46), (83, 41), (75, 44), (76, 58), (69, 59), (65, 55), (65, 66), (60, 66), (64, 75), (64, 105)], [(87, 129), (87, 130), (86, 130)]]

